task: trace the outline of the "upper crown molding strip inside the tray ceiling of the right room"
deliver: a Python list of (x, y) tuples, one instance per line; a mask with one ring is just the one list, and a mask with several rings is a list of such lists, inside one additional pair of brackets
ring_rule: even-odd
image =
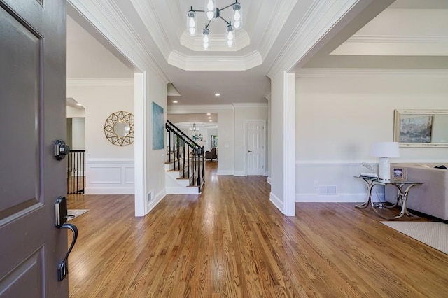
[(353, 35), (346, 43), (448, 43), (448, 36)]

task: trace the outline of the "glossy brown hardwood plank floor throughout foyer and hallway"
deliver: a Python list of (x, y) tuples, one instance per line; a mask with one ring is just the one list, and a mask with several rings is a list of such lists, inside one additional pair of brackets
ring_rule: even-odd
[(90, 209), (71, 220), (70, 297), (447, 297), (448, 255), (370, 208), (301, 203), (290, 218), (269, 190), (207, 162), (200, 197), (168, 195), (144, 218), (133, 196), (69, 195)]

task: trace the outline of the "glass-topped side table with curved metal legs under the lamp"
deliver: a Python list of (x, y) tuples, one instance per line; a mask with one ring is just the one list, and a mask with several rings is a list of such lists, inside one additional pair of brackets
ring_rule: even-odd
[[(402, 218), (402, 216), (405, 214), (407, 216), (412, 216), (412, 217), (418, 218), (418, 216), (407, 211), (407, 208), (406, 208), (407, 195), (409, 194), (409, 190), (411, 190), (412, 187), (414, 187), (416, 185), (423, 185), (423, 183), (411, 182), (411, 181), (401, 181), (401, 180), (385, 181), (385, 180), (379, 180), (378, 178), (365, 177), (365, 176), (354, 176), (354, 177), (364, 180), (364, 182), (367, 184), (367, 199), (363, 204), (355, 205), (356, 208), (367, 208), (367, 206), (371, 205), (373, 211), (375, 211), (375, 213), (377, 213), (377, 215), (379, 217), (384, 218), (385, 220), (396, 220), (398, 218)], [(393, 186), (397, 187), (398, 194), (397, 194), (397, 199), (395, 200), (395, 203), (391, 204), (391, 205), (386, 205), (384, 203), (380, 203), (377, 205), (374, 204), (374, 202), (372, 200), (372, 189), (375, 185), (393, 185)], [(377, 211), (377, 207), (394, 208), (400, 203), (401, 203), (400, 214), (398, 214), (397, 216), (394, 216), (392, 218), (388, 218), (384, 215), (381, 215)]]

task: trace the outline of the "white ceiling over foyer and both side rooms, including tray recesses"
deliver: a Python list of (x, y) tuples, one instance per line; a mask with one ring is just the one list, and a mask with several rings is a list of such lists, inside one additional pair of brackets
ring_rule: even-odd
[[(218, 7), (232, 2), (219, 0)], [(108, 1), (137, 31), (179, 91), (180, 96), (169, 96), (169, 105), (173, 100), (179, 105), (265, 103), (270, 92), (265, 74), (288, 36), (315, 3), (239, 2), (244, 11), (244, 29), (237, 32), (239, 48), (220, 48), (226, 24), (214, 20), (209, 27), (211, 49), (204, 51), (197, 47), (200, 40), (195, 40), (200, 36), (186, 34), (186, 14), (190, 6), (203, 9), (203, 0)], [(67, 78), (132, 78), (132, 64), (71, 6), (68, 14)], [(448, 1), (397, 0), (374, 20), (372, 17), (362, 15), (348, 24), (342, 34), (328, 41), (306, 64), (297, 65), (295, 71), (304, 66), (448, 68)], [(200, 20), (200, 13), (197, 19)], [(200, 24), (199, 31), (205, 22)], [(221, 97), (215, 97), (215, 93), (221, 93)]]

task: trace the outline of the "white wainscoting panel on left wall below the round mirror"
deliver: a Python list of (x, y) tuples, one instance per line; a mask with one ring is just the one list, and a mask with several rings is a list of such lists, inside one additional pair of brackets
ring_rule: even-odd
[(134, 159), (87, 159), (85, 194), (134, 194)]

